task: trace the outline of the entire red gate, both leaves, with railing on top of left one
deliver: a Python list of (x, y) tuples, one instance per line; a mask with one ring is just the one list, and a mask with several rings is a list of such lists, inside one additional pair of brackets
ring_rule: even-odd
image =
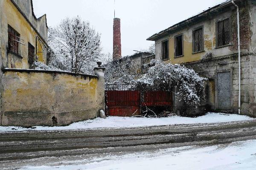
[(142, 107), (171, 107), (172, 92), (147, 91), (141, 103), (140, 92), (126, 84), (107, 84), (105, 90), (106, 114), (110, 116), (140, 115)]

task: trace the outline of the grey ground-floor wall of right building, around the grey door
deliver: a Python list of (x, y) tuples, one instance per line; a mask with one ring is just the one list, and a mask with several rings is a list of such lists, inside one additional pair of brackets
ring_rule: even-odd
[[(241, 56), (241, 113), (244, 115), (256, 116), (252, 112), (251, 105), (255, 103), (255, 77), (256, 70), (253, 70), (252, 63), (255, 64), (254, 55)], [(238, 92), (239, 92), (239, 69), (238, 55), (215, 58), (214, 60), (199, 61), (196, 63), (186, 63), (185, 66), (194, 69), (199, 75), (209, 78), (209, 91), (207, 92), (208, 104), (211, 109), (218, 109), (217, 101), (217, 73), (231, 72), (231, 110), (238, 113)], [(214, 86), (215, 84), (215, 86)]]

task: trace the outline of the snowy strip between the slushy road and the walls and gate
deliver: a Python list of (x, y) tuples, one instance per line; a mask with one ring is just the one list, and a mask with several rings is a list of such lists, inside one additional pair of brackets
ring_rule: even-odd
[(27, 130), (77, 130), (92, 128), (148, 127), (174, 124), (202, 124), (248, 120), (255, 119), (244, 115), (224, 113), (207, 113), (206, 115), (197, 118), (186, 118), (180, 116), (172, 116), (167, 118), (108, 117), (106, 119), (96, 118), (93, 120), (80, 121), (65, 127), (0, 127), (0, 132)]

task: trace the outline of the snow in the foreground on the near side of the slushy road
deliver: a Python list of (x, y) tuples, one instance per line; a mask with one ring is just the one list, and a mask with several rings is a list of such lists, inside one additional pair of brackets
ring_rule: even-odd
[(53, 166), (26, 166), (20, 170), (255, 170), (256, 140), (209, 147), (177, 147), (155, 152), (65, 161)]

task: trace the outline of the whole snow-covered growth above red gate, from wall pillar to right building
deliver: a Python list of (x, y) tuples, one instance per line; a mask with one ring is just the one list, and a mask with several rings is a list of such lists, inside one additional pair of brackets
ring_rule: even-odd
[(180, 112), (183, 115), (196, 115), (192, 112), (196, 112), (198, 106), (204, 105), (204, 85), (207, 79), (200, 77), (193, 69), (152, 60), (147, 65), (148, 72), (139, 75), (136, 72), (138, 68), (134, 68), (131, 62), (129, 58), (123, 58), (108, 64), (105, 82), (133, 84), (141, 92), (148, 89), (174, 92), (175, 100), (182, 105), (183, 110)]

